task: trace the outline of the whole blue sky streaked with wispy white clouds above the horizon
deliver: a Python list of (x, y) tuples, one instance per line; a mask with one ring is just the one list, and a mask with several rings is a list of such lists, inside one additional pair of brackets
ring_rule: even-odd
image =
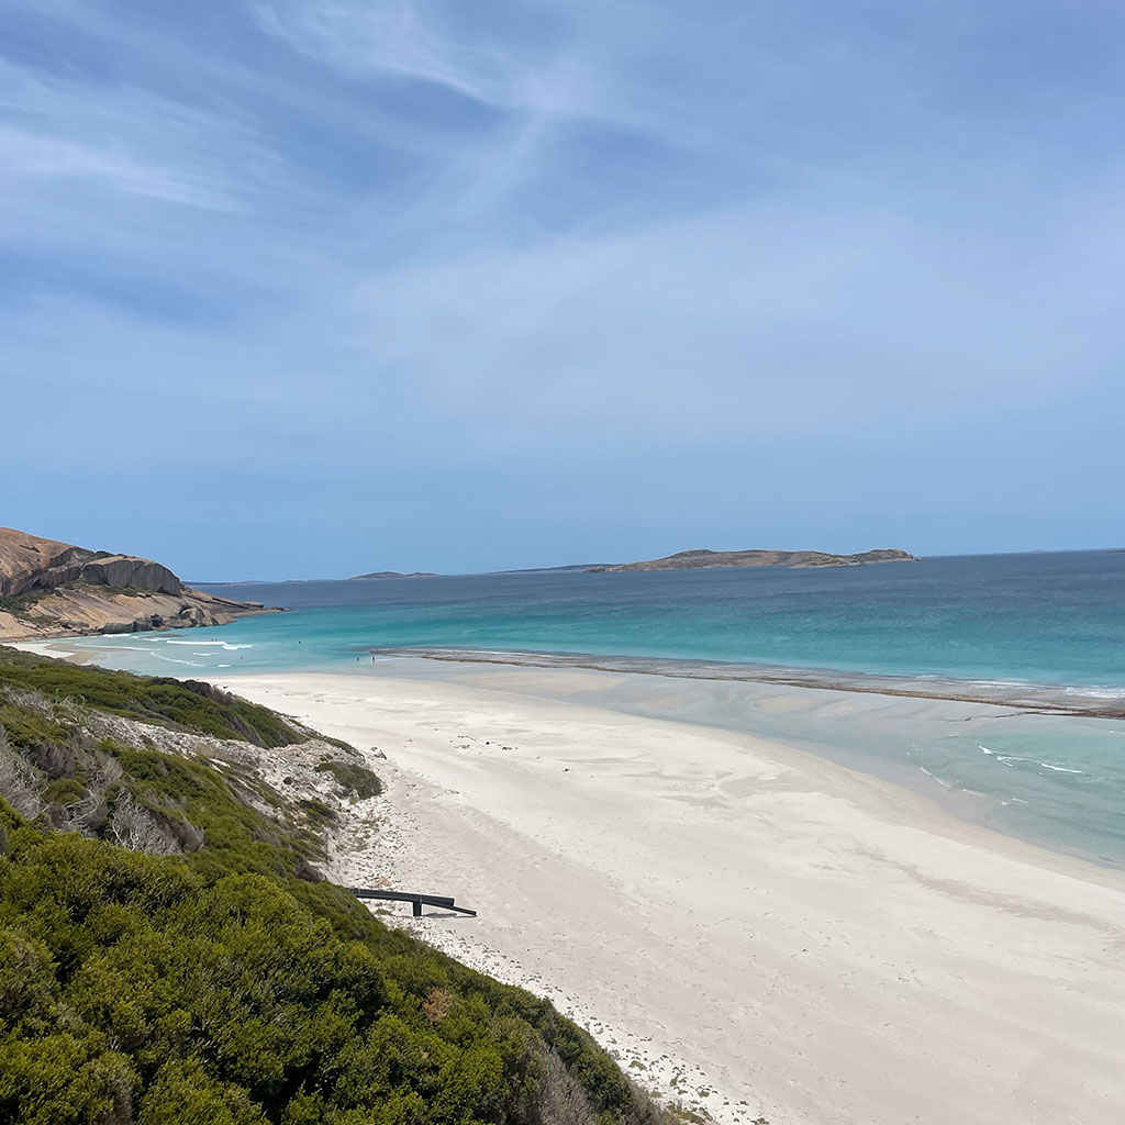
[(0, 523), (189, 578), (1119, 546), (1125, 7), (0, 0)]

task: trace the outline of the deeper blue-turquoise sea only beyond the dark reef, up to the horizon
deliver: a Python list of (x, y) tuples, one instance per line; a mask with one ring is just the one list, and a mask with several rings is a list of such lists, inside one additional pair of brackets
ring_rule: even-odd
[[(465, 647), (1125, 687), (1125, 551), (212, 588), (295, 611), (216, 633), (251, 645), (240, 663), (255, 668)], [(197, 634), (170, 639), (177, 659), (201, 651)]]

